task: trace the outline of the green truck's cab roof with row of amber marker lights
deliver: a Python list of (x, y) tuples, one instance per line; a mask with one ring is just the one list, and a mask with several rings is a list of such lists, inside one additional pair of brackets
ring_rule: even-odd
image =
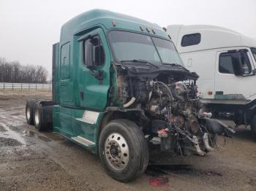
[(72, 36), (80, 34), (87, 28), (94, 26), (103, 26), (106, 30), (123, 29), (128, 31), (138, 31), (154, 36), (161, 36), (165, 39), (168, 38), (166, 32), (157, 24), (149, 23), (148, 21), (137, 17), (110, 12), (108, 10), (92, 9), (73, 17), (61, 27), (61, 41), (70, 39)]

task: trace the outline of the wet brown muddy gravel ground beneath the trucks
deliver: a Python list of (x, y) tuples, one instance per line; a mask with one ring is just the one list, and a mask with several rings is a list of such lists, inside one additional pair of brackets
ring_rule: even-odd
[[(29, 98), (51, 95), (0, 94), (0, 190), (256, 190), (256, 136), (249, 129), (219, 138), (219, 147), (206, 157), (154, 157), (143, 176), (124, 184), (105, 174), (97, 155), (26, 125)], [(157, 176), (169, 186), (151, 186)]]

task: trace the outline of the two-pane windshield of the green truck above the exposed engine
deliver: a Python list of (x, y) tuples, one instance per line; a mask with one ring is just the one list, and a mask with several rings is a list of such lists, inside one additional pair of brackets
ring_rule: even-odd
[(148, 61), (154, 65), (184, 66), (173, 42), (127, 31), (110, 31), (109, 40), (117, 61)]

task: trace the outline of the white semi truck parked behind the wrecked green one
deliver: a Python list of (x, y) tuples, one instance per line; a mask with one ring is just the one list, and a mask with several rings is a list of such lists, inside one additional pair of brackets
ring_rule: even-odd
[(218, 26), (167, 26), (198, 93), (218, 117), (256, 133), (256, 40)]

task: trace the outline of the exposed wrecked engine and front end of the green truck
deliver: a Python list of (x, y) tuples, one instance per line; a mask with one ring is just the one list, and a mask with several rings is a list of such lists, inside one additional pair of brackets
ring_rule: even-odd
[(117, 66), (118, 102), (124, 109), (145, 113), (140, 126), (148, 141), (160, 139), (162, 152), (206, 155), (216, 134), (233, 130), (211, 119), (197, 96), (197, 74), (181, 66), (149, 66), (127, 63)]

